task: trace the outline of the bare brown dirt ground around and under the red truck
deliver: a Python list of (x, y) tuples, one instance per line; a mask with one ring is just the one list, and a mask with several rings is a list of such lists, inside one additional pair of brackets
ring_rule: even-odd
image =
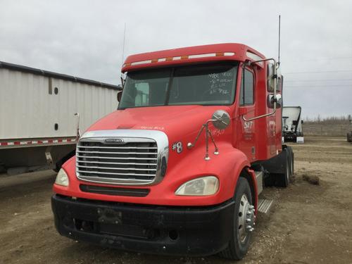
[[(294, 182), (263, 191), (274, 206), (258, 215), (251, 249), (237, 263), (352, 263), (352, 144), (344, 137), (306, 137), (291, 146)], [(320, 177), (320, 185), (304, 181), (304, 174)], [(51, 171), (0, 175), (0, 263), (232, 263), (103, 249), (61, 237), (50, 206), (54, 178)]]

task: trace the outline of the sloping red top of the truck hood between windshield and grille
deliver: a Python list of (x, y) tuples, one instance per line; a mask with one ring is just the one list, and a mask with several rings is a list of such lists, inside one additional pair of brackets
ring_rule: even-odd
[[(93, 130), (160, 130), (168, 135), (169, 143), (179, 141), (199, 131), (216, 110), (230, 113), (228, 106), (155, 106), (127, 108), (101, 118), (89, 127)], [(211, 126), (211, 125), (210, 125)], [(182, 137), (182, 138), (181, 138)]]

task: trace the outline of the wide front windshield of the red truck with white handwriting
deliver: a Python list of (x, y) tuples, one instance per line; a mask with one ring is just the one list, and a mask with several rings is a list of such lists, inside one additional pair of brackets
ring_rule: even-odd
[(118, 108), (229, 105), (236, 82), (237, 64), (229, 63), (131, 72)]

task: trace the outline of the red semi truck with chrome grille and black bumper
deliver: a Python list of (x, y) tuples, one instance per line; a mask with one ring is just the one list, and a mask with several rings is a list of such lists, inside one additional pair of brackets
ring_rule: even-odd
[(118, 110), (58, 172), (56, 229), (128, 251), (243, 258), (260, 191), (293, 174), (276, 61), (213, 44), (132, 55), (122, 73)]

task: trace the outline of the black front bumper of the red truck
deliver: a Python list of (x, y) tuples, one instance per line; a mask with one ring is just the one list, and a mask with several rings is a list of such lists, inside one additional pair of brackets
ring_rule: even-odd
[(55, 226), (70, 239), (127, 251), (208, 256), (226, 248), (234, 201), (211, 207), (142, 206), (51, 198)]

